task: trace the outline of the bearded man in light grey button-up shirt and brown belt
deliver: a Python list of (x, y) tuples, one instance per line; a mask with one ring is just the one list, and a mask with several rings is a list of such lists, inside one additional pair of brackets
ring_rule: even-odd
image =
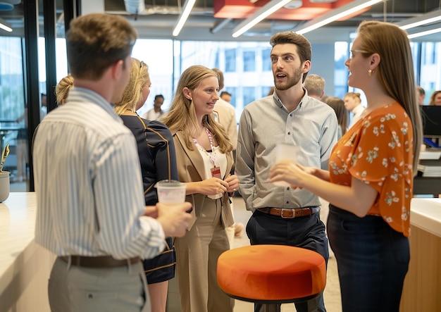
[[(235, 173), (247, 210), (253, 212), (247, 235), (251, 245), (302, 247), (328, 261), (328, 239), (318, 213), (318, 196), (306, 189), (273, 185), (269, 174), (279, 142), (299, 146), (297, 161), (302, 166), (320, 167), (337, 142), (337, 117), (332, 108), (311, 98), (303, 87), (311, 69), (309, 41), (295, 32), (279, 32), (270, 43), (275, 92), (244, 107), (237, 139)], [(295, 306), (299, 312), (325, 311), (323, 295)], [(275, 304), (254, 307), (256, 312), (278, 311)]]

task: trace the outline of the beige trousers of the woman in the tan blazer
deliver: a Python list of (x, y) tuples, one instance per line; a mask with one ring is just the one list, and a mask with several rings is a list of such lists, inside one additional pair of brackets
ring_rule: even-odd
[(218, 257), (228, 249), (221, 200), (207, 197), (192, 229), (175, 239), (182, 312), (232, 312), (234, 299), (222, 291), (216, 276)]

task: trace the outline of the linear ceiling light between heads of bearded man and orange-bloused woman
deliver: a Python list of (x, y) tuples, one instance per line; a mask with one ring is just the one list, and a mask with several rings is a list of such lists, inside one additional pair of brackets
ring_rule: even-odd
[(318, 18), (314, 18), (313, 20), (310, 20), (309, 22), (305, 23), (304, 25), (294, 28), (292, 30), (293, 32), (297, 32), (297, 34), (305, 34), (306, 32), (311, 32), (311, 30), (316, 30), (319, 27), (322, 27), (326, 24), (329, 24), (333, 22), (334, 20), (339, 20), (340, 18), (344, 18), (347, 15), (352, 15), (353, 13), (356, 13), (357, 11), (363, 10), (364, 8), (367, 8), (368, 6), (372, 6), (373, 4), (376, 4), (383, 0), (371, 0), (371, 1), (361, 1), (356, 0), (352, 1), (349, 4), (345, 4), (344, 6), (340, 6), (340, 8), (336, 8), (333, 11), (330, 11), (328, 13), (325, 13), (321, 16), (318, 16)]

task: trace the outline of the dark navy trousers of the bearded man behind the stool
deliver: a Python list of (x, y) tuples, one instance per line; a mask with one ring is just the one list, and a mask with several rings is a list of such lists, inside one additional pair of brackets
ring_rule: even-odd
[[(321, 254), (328, 264), (329, 251), (325, 225), (320, 214), (300, 218), (285, 219), (254, 211), (247, 223), (247, 235), (251, 245), (278, 244), (310, 249)], [(264, 265), (265, 263), (262, 263)], [(298, 312), (325, 312), (323, 294), (316, 299), (296, 303)], [(254, 304), (254, 311), (278, 312), (275, 304)]]

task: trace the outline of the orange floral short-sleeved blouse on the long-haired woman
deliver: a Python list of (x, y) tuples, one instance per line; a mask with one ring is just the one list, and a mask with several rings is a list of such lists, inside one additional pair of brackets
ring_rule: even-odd
[(396, 231), (410, 235), (413, 177), (413, 130), (398, 103), (375, 109), (335, 144), (330, 181), (351, 185), (351, 178), (378, 191), (368, 215), (382, 216)]

